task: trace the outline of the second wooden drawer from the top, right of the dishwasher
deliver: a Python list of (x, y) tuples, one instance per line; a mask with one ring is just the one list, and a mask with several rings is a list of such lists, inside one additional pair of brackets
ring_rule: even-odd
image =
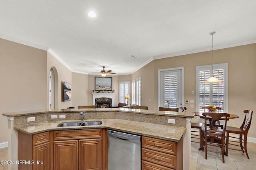
[(142, 160), (176, 169), (176, 156), (142, 148)]

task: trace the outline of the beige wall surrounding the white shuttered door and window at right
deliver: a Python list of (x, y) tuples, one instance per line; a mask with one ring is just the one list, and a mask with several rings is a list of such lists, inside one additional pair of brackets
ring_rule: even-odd
[[(196, 66), (211, 64), (211, 51), (156, 59), (137, 71), (132, 77), (142, 77), (142, 104), (148, 105), (148, 94), (154, 89), (154, 108), (157, 110), (157, 72), (158, 69), (184, 67), (184, 99), (195, 101), (195, 95), (191, 94), (195, 88)], [(244, 119), (243, 111), (249, 109), (256, 111), (256, 43), (238, 47), (214, 50), (214, 64), (228, 63), (228, 111), (239, 115), (240, 118), (228, 121), (229, 126), (240, 126)], [(154, 64), (154, 77), (145, 79), (144, 76), (150, 71), (149, 65)], [(145, 69), (148, 67), (149, 69)], [(152, 81), (154, 83), (152, 83)], [(147, 86), (147, 87), (145, 87)], [(146, 99), (146, 101), (144, 101)], [(188, 112), (194, 112), (190, 103), (185, 104)], [(256, 138), (256, 117), (252, 118), (252, 126), (248, 136)], [(193, 121), (198, 121), (193, 119)]]

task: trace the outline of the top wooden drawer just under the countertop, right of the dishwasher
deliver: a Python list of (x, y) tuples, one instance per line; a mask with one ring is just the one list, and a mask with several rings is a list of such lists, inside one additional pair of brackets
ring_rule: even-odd
[(142, 148), (176, 155), (176, 142), (142, 136)]

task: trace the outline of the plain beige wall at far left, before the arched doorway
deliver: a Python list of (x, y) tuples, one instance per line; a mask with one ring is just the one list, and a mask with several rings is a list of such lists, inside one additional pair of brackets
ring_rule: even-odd
[(46, 51), (0, 39), (0, 143), (8, 140), (2, 113), (46, 109)]

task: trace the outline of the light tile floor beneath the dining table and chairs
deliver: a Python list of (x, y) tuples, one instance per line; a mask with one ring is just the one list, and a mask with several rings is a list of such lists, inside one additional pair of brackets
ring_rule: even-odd
[[(229, 146), (229, 148), (236, 146)], [(255, 170), (256, 143), (247, 142), (247, 151), (250, 159), (242, 151), (228, 150), (228, 156), (224, 156), (225, 163), (222, 163), (220, 153), (198, 150), (199, 143), (191, 142), (190, 170)], [(220, 150), (215, 147), (214, 149)]]

